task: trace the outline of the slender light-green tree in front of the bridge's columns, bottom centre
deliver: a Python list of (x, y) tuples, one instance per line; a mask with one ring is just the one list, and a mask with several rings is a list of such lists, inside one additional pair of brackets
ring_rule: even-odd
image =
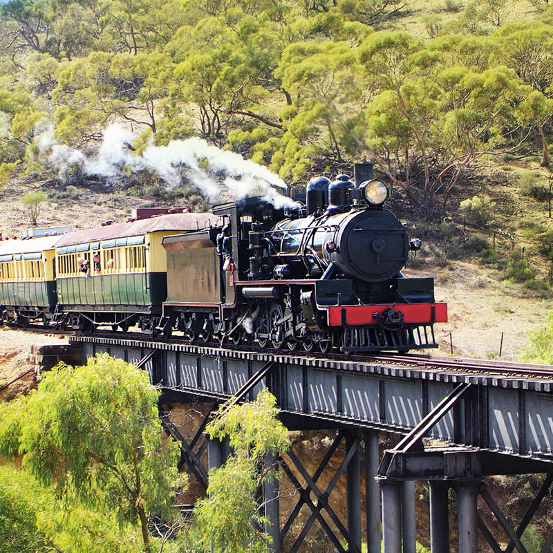
[(234, 451), (225, 465), (209, 471), (209, 498), (195, 508), (192, 535), (197, 546), (217, 552), (265, 553), (270, 537), (261, 531), (265, 518), (256, 490), (268, 478), (277, 478), (274, 467), (260, 470), (268, 453), (282, 455), (290, 446), (285, 427), (277, 420), (276, 399), (265, 388), (249, 404), (221, 406), (207, 427), (212, 440), (229, 436)]

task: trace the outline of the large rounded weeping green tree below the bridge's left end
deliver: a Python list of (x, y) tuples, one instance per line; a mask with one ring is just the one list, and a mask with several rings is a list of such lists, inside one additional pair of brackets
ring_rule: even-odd
[(178, 446), (162, 444), (158, 396), (147, 373), (108, 355), (59, 366), (3, 408), (19, 422), (0, 433), (0, 451), (13, 453), (19, 433), (23, 467), (41, 485), (66, 506), (113, 512), (121, 527), (139, 521), (149, 552), (148, 513), (169, 514), (177, 482)]

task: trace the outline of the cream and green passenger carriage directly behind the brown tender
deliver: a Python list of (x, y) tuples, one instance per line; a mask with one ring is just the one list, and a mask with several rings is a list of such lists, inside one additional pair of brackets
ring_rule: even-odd
[(216, 223), (212, 214), (174, 213), (71, 232), (56, 245), (56, 321), (93, 330), (107, 324), (151, 331), (167, 299), (163, 236)]

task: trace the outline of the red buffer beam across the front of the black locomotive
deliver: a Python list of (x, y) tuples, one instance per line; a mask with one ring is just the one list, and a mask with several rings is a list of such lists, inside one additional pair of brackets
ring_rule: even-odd
[[(328, 308), (329, 326), (378, 324), (374, 315), (391, 308), (392, 305), (374, 306), (332, 306)], [(407, 324), (431, 324), (447, 322), (447, 303), (395, 303), (394, 310), (403, 313)]]

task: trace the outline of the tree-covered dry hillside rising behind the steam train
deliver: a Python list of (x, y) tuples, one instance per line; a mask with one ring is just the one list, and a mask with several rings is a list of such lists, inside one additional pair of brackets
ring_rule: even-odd
[[(184, 9), (183, 9), (184, 8)], [(435, 277), (440, 352), (521, 355), (552, 306), (553, 12), (543, 0), (0, 10), (0, 232), (302, 189), (371, 159)], [(124, 18), (121, 15), (124, 13)], [(122, 22), (124, 21), (124, 22)], [(39, 24), (37, 24), (39, 22)], [(36, 32), (26, 35), (29, 26)], [(19, 37), (19, 38), (18, 38)], [(259, 165), (256, 165), (259, 164)]]

